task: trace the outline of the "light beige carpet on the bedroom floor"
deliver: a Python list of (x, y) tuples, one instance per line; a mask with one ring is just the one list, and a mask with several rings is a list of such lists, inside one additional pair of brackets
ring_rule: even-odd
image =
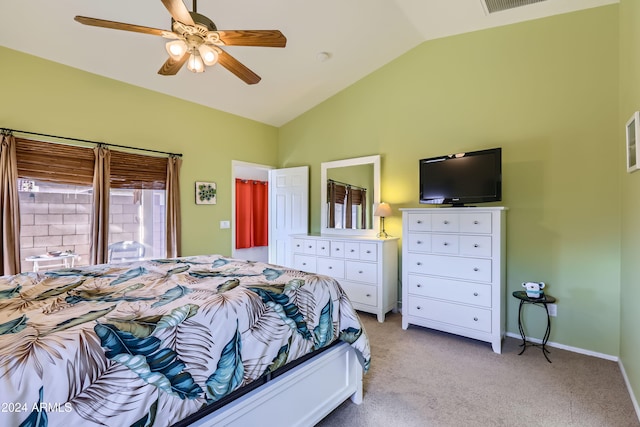
[(616, 362), (489, 343), (360, 317), (371, 341), (364, 402), (347, 400), (318, 424), (333, 426), (640, 426)]

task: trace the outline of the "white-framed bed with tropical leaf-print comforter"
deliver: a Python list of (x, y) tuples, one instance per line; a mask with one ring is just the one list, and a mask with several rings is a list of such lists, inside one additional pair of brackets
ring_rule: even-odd
[(0, 277), (3, 426), (311, 425), (369, 363), (326, 276), (211, 255)]

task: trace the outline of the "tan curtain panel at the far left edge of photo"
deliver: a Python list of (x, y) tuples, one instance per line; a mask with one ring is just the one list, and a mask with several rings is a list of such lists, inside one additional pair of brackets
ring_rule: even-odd
[(2, 246), (0, 275), (20, 272), (20, 201), (18, 166), (13, 135), (0, 135), (0, 208)]

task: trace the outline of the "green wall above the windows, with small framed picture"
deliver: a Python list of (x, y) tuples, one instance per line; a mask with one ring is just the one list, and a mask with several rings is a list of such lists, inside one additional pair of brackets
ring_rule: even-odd
[[(0, 64), (0, 127), (182, 153), (182, 253), (231, 254), (231, 161), (275, 166), (276, 128), (3, 47)], [(218, 184), (216, 205), (195, 181)]]

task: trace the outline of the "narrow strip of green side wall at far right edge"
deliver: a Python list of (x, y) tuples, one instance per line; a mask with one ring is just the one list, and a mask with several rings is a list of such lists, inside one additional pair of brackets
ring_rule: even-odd
[[(620, 117), (617, 146), (622, 183), (622, 269), (620, 360), (637, 398), (640, 396), (640, 172), (624, 171), (625, 123), (640, 110), (640, 1), (620, 1)], [(636, 408), (638, 411), (638, 408)]]

